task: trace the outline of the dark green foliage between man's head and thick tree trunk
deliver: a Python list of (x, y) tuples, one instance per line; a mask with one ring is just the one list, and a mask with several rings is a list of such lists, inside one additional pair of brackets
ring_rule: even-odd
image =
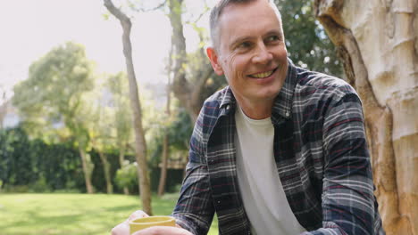
[(298, 66), (341, 77), (334, 45), (314, 16), (314, 1), (276, 0), (283, 22), (288, 56)]

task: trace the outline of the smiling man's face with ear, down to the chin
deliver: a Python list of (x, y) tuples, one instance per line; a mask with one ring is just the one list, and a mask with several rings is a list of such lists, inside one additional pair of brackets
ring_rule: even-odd
[(272, 104), (288, 72), (283, 30), (272, 7), (266, 0), (228, 5), (218, 22), (217, 50), (207, 50), (241, 107)]

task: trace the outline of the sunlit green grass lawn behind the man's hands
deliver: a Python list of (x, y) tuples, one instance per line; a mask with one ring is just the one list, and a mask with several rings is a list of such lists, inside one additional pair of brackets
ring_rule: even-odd
[[(170, 215), (177, 195), (153, 198), (155, 215)], [(0, 235), (110, 234), (140, 208), (138, 196), (106, 194), (0, 194)], [(217, 234), (213, 220), (208, 234)]]

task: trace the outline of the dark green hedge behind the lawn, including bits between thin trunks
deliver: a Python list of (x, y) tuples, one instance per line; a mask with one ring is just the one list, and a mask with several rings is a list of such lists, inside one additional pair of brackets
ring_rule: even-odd
[[(95, 167), (92, 182), (97, 191), (106, 191), (102, 163), (95, 150), (88, 152)], [(115, 175), (118, 153), (106, 152)], [(133, 156), (127, 158), (132, 161)], [(29, 140), (20, 127), (0, 131), (0, 180), (6, 191), (86, 191), (79, 151), (72, 142), (46, 143)], [(116, 191), (121, 192), (121, 189)]]

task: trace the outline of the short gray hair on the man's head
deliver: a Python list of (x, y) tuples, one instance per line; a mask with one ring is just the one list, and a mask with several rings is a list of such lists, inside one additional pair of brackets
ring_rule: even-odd
[[(223, 9), (225, 9), (225, 7), (227, 7), (230, 4), (247, 4), (247, 3), (251, 3), (251, 2), (255, 2), (256, 0), (220, 0), (218, 2), (218, 4), (216, 4), (212, 10), (211, 10), (211, 15), (210, 15), (210, 21), (209, 21), (209, 25), (210, 25), (210, 30), (211, 30), (211, 39), (212, 39), (212, 45), (213, 47), (217, 48), (217, 46), (219, 45), (219, 28), (218, 28), (218, 22), (219, 22), (219, 18), (221, 17), (222, 11)], [(269, 3), (272, 3), (271, 0), (267, 0)], [(280, 23), (281, 23), (281, 15), (279, 10), (277, 9), (277, 7), (274, 7), (275, 10), (277, 10), (277, 14), (278, 17), (280, 19)]]

